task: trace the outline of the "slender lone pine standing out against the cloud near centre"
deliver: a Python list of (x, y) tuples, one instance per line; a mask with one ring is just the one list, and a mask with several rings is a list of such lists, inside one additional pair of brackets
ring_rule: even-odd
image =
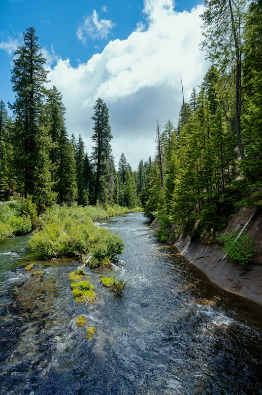
[(94, 133), (92, 140), (95, 143), (92, 153), (92, 160), (96, 169), (96, 184), (94, 204), (97, 201), (106, 202), (107, 198), (107, 175), (109, 171), (109, 158), (111, 155), (110, 140), (112, 139), (111, 127), (109, 125), (108, 108), (102, 99), (98, 98), (94, 106), (95, 113), (92, 117), (94, 120)]

